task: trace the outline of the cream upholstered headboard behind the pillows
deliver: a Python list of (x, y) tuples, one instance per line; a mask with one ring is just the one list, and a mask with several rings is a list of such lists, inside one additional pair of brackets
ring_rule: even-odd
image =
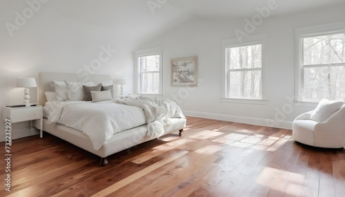
[[(63, 73), (63, 72), (39, 72), (39, 79), (37, 85), (38, 102), (39, 105), (44, 105), (47, 102), (44, 92), (51, 92), (52, 87), (50, 83), (52, 80), (56, 81), (85, 81), (75, 73)], [(108, 81), (111, 80), (110, 75), (106, 74), (90, 74), (88, 81)]]

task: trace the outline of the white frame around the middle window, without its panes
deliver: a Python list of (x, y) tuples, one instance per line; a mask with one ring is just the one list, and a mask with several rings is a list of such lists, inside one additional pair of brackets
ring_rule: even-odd
[[(247, 46), (247, 45), (262, 45), (262, 97), (261, 98), (229, 98), (227, 97), (228, 92), (228, 68), (226, 67), (226, 48), (232, 47), (240, 47), (240, 46)], [(255, 36), (243, 37), (242, 41), (239, 39), (228, 39), (221, 41), (221, 53), (222, 53), (222, 97), (221, 101), (223, 102), (231, 102), (231, 103), (251, 103), (251, 104), (260, 104), (266, 105), (267, 104), (267, 93), (266, 93), (266, 52), (267, 52), (267, 35), (266, 34), (259, 34)]]

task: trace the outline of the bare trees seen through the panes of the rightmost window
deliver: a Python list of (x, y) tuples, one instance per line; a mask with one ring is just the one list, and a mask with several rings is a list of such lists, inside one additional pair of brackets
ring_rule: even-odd
[(302, 39), (304, 101), (344, 100), (345, 33)]

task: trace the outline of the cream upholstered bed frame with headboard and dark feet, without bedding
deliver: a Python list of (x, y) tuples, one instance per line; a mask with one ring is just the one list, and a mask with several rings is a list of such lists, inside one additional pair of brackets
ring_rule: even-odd
[[(46, 105), (47, 98), (45, 93), (53, 92), (51, 85), (52, 81), (111, 81), (111, 77), (109, 75), (88, 75), (87, 77), (81, 78), (81, 76), (77, 76), (77, 74), (59, 72), (40, 72), (37, 85), (39, 105)], [(122, 100), (120, 99), (119, 101)], [(119, 101), (116, 101), (117, 105), (124, 105), (119, 103)], [(105, 102), (106, 101), (102, 101), (99, 103)], [(168, 121), (168, 124), (164, 125), (163, 133), (159, 134), (159, 136), (163, 136), (177, 131), (179, 131), (179, 136), (182, 135), (184, 127), (186, 127), (186, 118), (184, 118), (184, 116), (172, 116), (168, 118), (168, 120), (166, 121)], [(39, 128), (39, 123), (35, 122), (34, 127)], [(124, 149), (128, 149), (140, 143), (144, 143), (146, 141), (150, 141), (154, 138), (157, 138), (157, 136), (155, 135), (148, 136), (148, 124), (138, 125), (136, 127), (130, 127), (125, 129), (124, 131), (112, 134), (110, 138), (107, 139), (99, 148), (95, 149), (95, 144), (93, 144), (94, 141), (92, 141), (88, 135), (84, 134), (79, 129), (68, 127), (59, 122), (48, 121), (48, 118), (43, 118), (43, 131), (57, 136), (58, 138), (61, 138), (64, 141), (68, 141), (69, 143), (72, 143), (77, 147), (81, 147), (82, 149), (85, 149), (86, 151), (99, 156), (101, 158), (101, 166), (108, 164), (107, 156), (120, 152)]]

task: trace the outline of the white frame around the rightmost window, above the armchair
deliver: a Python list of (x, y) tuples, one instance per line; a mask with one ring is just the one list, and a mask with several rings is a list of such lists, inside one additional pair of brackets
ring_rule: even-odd
[(319, 103), (318, 101), (303, 100), (304, 70), (302, 64), (304, 50), (302, 39), (325, 34), (337, 34), (344, 31), (345, 21), (295, 29), (295, 105), (302, 107), (316, 107), (317, 103)]

